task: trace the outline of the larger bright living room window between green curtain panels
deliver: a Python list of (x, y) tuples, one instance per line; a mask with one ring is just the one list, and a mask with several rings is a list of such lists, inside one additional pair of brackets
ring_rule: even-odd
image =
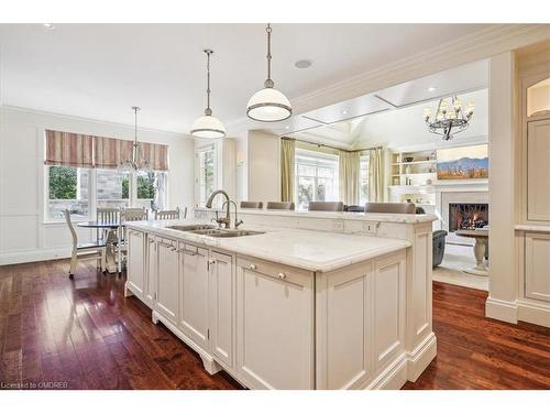
[(338, 200), (338, 156), (297, 150), (295, 185), (298, 209), (311, 200)]

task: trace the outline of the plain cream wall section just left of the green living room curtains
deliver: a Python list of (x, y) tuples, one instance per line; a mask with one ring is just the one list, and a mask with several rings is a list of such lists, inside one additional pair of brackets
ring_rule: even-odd
[(280, 139), (251, 130), (248, 150), (249, 200), (280, 200)]

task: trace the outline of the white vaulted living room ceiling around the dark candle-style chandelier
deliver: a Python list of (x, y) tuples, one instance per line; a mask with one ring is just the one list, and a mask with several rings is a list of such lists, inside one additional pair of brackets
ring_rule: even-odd
[[(424, 124), (424, 108), (429, 106), (436, 111), (440, 97), (459, 94), (465, 104), (470, 100), (476, 104), (475, 119), (470, 130), (461, 135), (486, 139), (487, 87), (488, 62), (479, 61), (295, 116), (293, 128), (301, 126), (296, 118), (309, 122), (317, 119), (317, 127), (289, 128), (283, 133), (343, 149), (373, 144), (391, 148), (433, 144), (438, 138)], [(351, 120), (338, 121), (348, 118)], [(346, 126), (346, 129), (336, 128), (339, 124)]]

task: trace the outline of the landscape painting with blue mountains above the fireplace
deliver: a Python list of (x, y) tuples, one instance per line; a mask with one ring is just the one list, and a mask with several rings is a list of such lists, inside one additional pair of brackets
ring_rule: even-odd
[(486, 144), (440, 149), (437, 153), (438, 180), (481, 180), (488, 177)]

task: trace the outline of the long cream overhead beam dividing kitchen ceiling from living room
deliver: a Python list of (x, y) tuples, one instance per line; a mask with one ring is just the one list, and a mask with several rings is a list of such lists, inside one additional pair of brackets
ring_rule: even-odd
[[(550, 39), (550, 24), (494, 24), (437, 47), (392, 62), (292, 99), (295, 115), (308, 112), (455, 66), (488, 58)], [(228, 124), (233, 134), (268, 126), (241, 118)]]

